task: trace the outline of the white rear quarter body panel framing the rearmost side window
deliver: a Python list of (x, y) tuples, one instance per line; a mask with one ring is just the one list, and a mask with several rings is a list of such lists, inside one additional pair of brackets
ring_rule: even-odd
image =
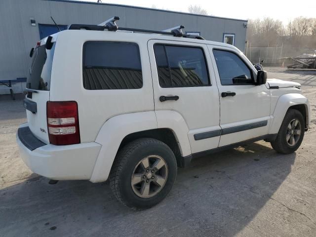
[[(126, 37), (126, 34), (129, 34)], [(124, 40), (122, 40), (124, 39)], [(82, 82), (82, 46), (85, 41), (138, 43), (143, 87), (140, 89), (86, 90)], [(119, 52), (118, 52), (119, 53)], [(68, 30), (59, 33), (51, 75), (51, 101), (77, 101), (81, 143), (95, 141), (102, 125), (114, 116), (154, 111), (153, 85), (147, 40), (120, 32)]]

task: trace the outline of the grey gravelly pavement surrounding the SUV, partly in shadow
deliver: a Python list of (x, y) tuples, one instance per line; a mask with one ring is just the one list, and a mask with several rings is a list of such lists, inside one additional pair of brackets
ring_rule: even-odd
[(269, 78), (303, 85), (312, 111), (301, 148), (280, 155), (256, 142), (193, 160), (179, 169), (157, 206), (122, 206), (107, 183), (48, 179), (19, 157), (21, 100), (0, 97), (0, 236), (316, 236), (316, 73), (266, 68)]

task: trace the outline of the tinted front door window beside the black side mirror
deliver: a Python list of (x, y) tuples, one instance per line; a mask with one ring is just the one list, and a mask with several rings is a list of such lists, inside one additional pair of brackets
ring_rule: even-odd
[(233, 52), (213, 50), (222, 85), (251, 84), (251, 71)]

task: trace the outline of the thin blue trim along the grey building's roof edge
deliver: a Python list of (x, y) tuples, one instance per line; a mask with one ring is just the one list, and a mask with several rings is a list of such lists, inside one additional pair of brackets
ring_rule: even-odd
[(189, 13), (189, 12), (171, 11), (171, 10), (163, 10), (163, 9), (150, 8), (150, 7), (142, 7), (142, 6), (131, 6), (131, 5), (115, 4), (115, 3), (103, 3), (103, 2), (98, 3), (98, 2), (92, 2), (92, 1), (78, 1), (78, 0), (43, 0), (43, 1), (60, 1), (60, 2), (79, 3), (79, 4), (94, 4), (94, 5), (120, 6), (120, 7), (129, 7), (129, 8), (137, 8), (137, 9), (153, 10), (153, 11), (162, 11), (162, 12), (170, 12), (170, 13), (186, 14), (186, 15), (191, 15), (191, 16), (202, 16), (202, 17), (218, 18), (218, 19), (224, 19), (224, 20), (234, 20), (234, 21), (243, 21), (243, 22), (248, 22), (248, 20), (235, 19), (235, 18), (229, 18), (229, 17), (209, 16), (209, 15), (200, 15), (200, 14), (194, 14), (194, 13)]

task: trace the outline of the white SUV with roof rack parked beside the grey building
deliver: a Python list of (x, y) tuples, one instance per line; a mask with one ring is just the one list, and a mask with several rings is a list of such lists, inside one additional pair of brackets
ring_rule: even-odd
[(122, 203), (147, 208), (192, 158), (263, 139), (283, 154), (301, 145), (310, 107), (299, 83), (267, 80), (236, 47), (181, 27), (112, 26), (72, 25), (31, 51), (17, 143), (35, 173), (110, 179)]

